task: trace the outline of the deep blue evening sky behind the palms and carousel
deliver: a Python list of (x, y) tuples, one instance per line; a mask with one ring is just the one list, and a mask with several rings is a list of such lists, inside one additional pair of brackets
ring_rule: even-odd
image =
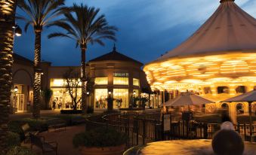
[[(84, 3), (100, 8), (109, 25), (119, 28), (116, 47), (120, 53), (147, 63), (177, 47), (187, 39), (220, 5), (219, 0), (66, 0), (66, 5)], [(236, 4), (256, 17), (256, 0), (236, 0)], [(20, 12), (18, 10), (18, 12)], [(23, 27), (22, 22), (18, 24)], [(42, 59), (52, 65), (79, 65), (81, 53), (69, 38), (53, 38), (50, 32), (60, 29), (44, 29), (42, 33)], [(15, 38), (14, 52), (33, 59), (34, 34), (32, 27), (22, 37)], [(106, 46), (90, 45), (87, 61), (109, 53), (113, 41)]]

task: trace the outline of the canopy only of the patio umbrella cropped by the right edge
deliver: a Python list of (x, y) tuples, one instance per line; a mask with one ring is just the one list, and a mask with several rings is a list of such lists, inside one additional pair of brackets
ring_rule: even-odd
[(256, 102), (256, 90), (226, 99), (222, 102)]

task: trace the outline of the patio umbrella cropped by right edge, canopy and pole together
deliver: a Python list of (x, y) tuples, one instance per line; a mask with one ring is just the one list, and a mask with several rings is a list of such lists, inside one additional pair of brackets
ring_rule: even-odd
[(252, 90), (251, 92), (244, 93), (239, 96), (232, 97), (230, 99), (226, 99), (222, 102), (248, 102), (249, 105), (249, 117), (250, 117), (250, 135), (252, 138), (252, 120), (251, 120), (251, 103), (256, 102), (256, 90)]

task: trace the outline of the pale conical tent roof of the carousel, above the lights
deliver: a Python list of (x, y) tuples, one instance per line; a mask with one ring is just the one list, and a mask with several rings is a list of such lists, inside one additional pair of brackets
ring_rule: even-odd
[(256, 20), (239, 8), (234, 0), (221, 0), (217, 11), (187, 41), (158, 60), (248, 50), (256, 51)]

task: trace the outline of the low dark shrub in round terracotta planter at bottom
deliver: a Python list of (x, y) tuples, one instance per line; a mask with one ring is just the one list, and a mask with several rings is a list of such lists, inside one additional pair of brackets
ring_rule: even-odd
[(100, 127), (76, 134), (72, 142), (82, 155), (120, 155), (125, 150), (126, 141), (128, 136), (125, 133)]

